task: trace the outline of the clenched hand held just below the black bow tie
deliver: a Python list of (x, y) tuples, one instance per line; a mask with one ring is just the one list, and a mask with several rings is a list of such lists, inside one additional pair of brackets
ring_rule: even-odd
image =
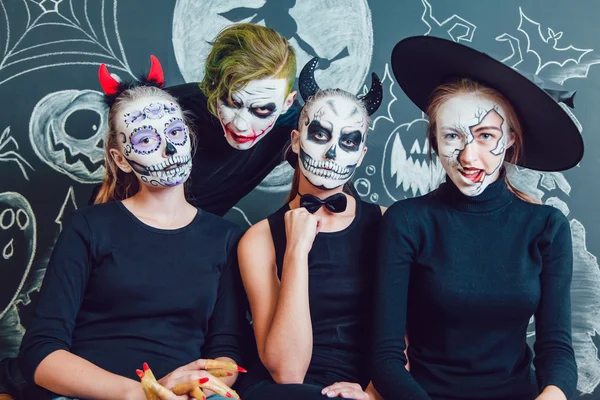
[(321, 229), (321, 217), (300, 207), (286, 212), (284, 220), (288, 246), (308, 253)]

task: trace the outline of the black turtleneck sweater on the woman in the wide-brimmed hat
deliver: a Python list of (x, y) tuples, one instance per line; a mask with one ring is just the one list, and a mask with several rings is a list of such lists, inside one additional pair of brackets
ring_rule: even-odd
[(572, 396), (569, 222), (518, 199), (503, 177), (475, 197), (446, 181), (383, 217), (375, 387), (386, 399), (525, 400), (548, 385)]

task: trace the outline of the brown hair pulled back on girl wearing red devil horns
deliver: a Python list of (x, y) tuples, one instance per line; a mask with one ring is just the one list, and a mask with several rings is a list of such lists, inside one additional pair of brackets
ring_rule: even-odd
[[(106, 173), (102, 186), (96, 195), (94, 204), (107, 203), (112, 200), (124, 200), (136, 194), (140, 188), (138, 178), (134, 173), (125, 173), (115, 163), (110, 154), (111, 149), (119, 151), (117, 117), (122, 115), (123, 108), (127, 104), (144, 97), (158, 97), (167, 102), (177, 104), (177, 100), (166, 91), (154, 86), (137, 86), (121, 93), (108, 111), (108, 132), (104, 141), (104, 165)], [(192, 149), (195, 148), (195, 135), (189, 124), (187, 113), (184, 112), (184, 120), (188, 126)]]

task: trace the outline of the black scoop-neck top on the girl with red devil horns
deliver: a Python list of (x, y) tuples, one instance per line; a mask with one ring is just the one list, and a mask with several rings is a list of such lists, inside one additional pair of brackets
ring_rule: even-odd
[(198, 210), (187, 226), (150, 227), (121, 202), (76, 211), (54, 247), (19, 354), (33, 383), (39, 363), (66, 350), (139, 380), (197, 358), (240, 362), (241, 230)]

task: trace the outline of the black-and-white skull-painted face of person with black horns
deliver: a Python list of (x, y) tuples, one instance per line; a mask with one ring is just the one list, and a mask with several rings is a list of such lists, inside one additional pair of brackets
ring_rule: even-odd
[(302, 174), (314, 186), (334, 189), (348, 182), (366, 152), (368, 118), (342, 96), (317, 100), (300, 131)]

